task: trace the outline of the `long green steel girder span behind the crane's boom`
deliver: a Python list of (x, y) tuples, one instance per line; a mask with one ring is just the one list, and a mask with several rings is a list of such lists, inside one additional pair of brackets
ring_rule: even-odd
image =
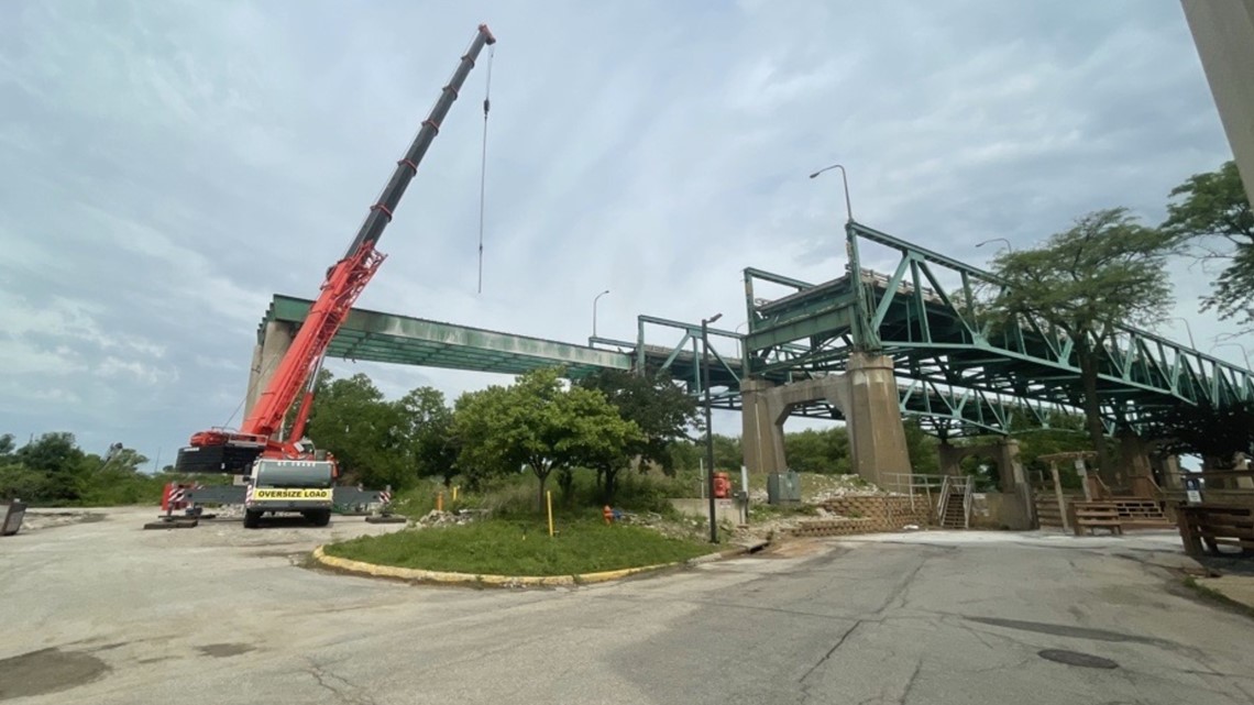
[[(305, 320), (310, 305), (307, 299), (276, 295), (258, 335), (265, 335), (270, 321), (298, 325)], [(503, 374), (523, 374), (564, 365), (572, 378), (604, 368), (632, 369), (631, 355), (624, 352), (362, 309), (354, 309), (349, 314), (327, 355), (346, 360)]]

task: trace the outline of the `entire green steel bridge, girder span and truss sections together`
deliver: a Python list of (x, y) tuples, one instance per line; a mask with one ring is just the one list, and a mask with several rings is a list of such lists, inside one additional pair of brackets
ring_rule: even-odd
[[(856, 222), (845, 227), (845, 275), (821, 284), (745, 270), (747, 331), (709, 330), (716, 406), (739, 409), (746, 376), (814, 379), (843, 373), (851, 351), (879, 351), (894, 360), (903, 415), (942, 438), (1006, 434), (1080, 413), (1075, 341), (1038, 321), (982, 320), (973, 302), (1002, 286), (992, 273)], [(861, 266), (868, 253), (888, 262), (883, 272)], [(276, 295), (258, 337), (267, 322), (298, 326), (308, 306)], [(1111, 433), (1140, 429), (1181, 403), (1254, 399), (1250, 370), (1150, 331), (1120, 327), (1100, 351), (1099, 395)], [(503, 374), (563, 365), (572, 378), (643, 369), (703, 391), (701, 326), (645, 315), (633, 341), (573, 345), (355, 309), (327, 354)], [(825, 403), (793, 413), (843, 418)]]

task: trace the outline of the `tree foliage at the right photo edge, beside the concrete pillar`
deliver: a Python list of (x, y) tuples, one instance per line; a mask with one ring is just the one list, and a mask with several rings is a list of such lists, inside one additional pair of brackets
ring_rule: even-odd
[(1201, 310), (1254, 330), (1254, 211), (1236, 163), (1189, 177), (1170, 197), (1179, 199), (1167, 204), (1162, 230), (1186, 242), (1204, 265), (1224, 266)]

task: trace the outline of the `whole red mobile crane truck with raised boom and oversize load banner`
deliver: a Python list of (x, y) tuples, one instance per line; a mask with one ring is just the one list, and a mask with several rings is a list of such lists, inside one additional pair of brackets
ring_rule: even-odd
[[(261, 501), (282, 501), (285, 504), (283, 509), (303, 511), (307, 516), (322, 512), (322, 494), (311, 494), (307, 490), (297, 492), (296, 489), (266, 490), (260, 489), (260, 487), (268, 485), (277, 488), (283, 484), (295, 484), (306, 488), (322, 488), (324, 484), (321, 480), (308, 479), (310, 469), (314, 465), (330, 468), (332, 477), (337, 474), (334, 462), (327, 460), (321, 453), (315, 453), (310, 444), (303, 440), (305, 423), (308, 420), (314, 400), (314, 384), (317, 378), (317, 370), (322, 364), (322, 358), (326, 355), (327, 346), (340, 330), (340, 325), (349, 315), (349, 310), (352, 307), (354, 301), (356, 301), (357, 295), (361, 294), (361, 290), (365, 289), (375, 271), (379, 270), (379, 265), (384, 261), (385, 256), (375, 250), (375, 245), (379, 242), (384, 228), (391, 222), (396, 212), (396, 206), (400, 203), (400, 198), (405, 193), (410, 179), (418, 173), (418, 166), (426, 154), (426, 149), (431, 146), (431, 140), (439, 133), (440, 123), (444, 120), (445, 114), (448, 114), (453, 102), (456, 100), (458, 92), (461, 89), (461, 84), (465, 82), (466, 75), (469, 75), (470, 69), (474, 68), (474, 61), (484, 45), (495, 44), (495, 41), (497, 39), (492, 35), (488, 25), (479, 25), (470, 48), (461, 56), (456, 70), (453, 72), (453, 78), (444, 87), (430, 114), (423, 120), (421, 129), (419, 129), (418, 135), (414, 138), (409, 152), (405, 153), (403, 159), (396, 162), (396, 171), (384, 187), (382, 193), (380, 193), (379, 201), (370, 207), (370, 213), (361, 225), (361, 230), (357, 231), (357, 236), (352, 240), (352, 245), (349, 246), (344, 257), (327, 271), (317, 301), (310, 307), (305, 322), (296, 334), (296, 339), (278, 363), (278, 368), (257, 398), (257, 403), (243, 425), (238, 432), (211, 429), (193, 434), (191, 444), (179, 449), (178, 460), (176, 462), (178, 470), (248, 473), (252, 475), (252, 480), (248, 485), (246, 507), (251, 507), (253, 499), (260, 497)], [(484, 109), (487, 109), (487, 104)], [(292, 428), (285, 437), (282, 433), (283, 418), (297, 398), (301, 396), (302, 388), (305, 390), (303, 399), (296, 413)], [(257, 468), (253, 467), (257, 464), (255, 460), (258, 457), (262, 460), (273, 460), (268, 465), (271, 475), (277, 478), (275, 482), (265, 482), (260, 477)], [(288, 474), (291, 482), (285, 483), (278, 477), (283, 474), (283, 472), (277, 470), (281, 468), (288, 468), (288, 470), (283, 472)], [(292, 468), (296, 468), (295, 474), (291, 472)], [(305, 479), (298, 479), (297, 475), (303, 475)], [(325, 485), (327, 518), (330, 518), (329, 483), (330, 479), (326, 480)], [(266, 492), (270, 492), (270, 494), (266, 494)], [(319, 492), (322, 490), (319, 489)], [(315, 496), (320, 502), (317, 506), (305, 502), (305, 499), (315, 498)], [(261, 507), (262, 504), (257, 506)], [(273, 507), (272, 504), (266, 506), (266, 509), (275, 511)], [(310, 509), (311, 507), (314, 509)], [(260, 514), (261, 512), (255, 513)], [(251, 516), (252, 513), (246, 514), (246, 517)], [(246, 519), (247, 523), (248, 521)], [(252, 523), (256, 524), (256, 521), (253, 519)]]

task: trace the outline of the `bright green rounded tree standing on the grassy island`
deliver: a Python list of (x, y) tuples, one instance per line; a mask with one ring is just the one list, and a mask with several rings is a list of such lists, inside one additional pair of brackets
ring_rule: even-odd
[(459, 463), (475, 473), (515, 472), (525, 465), (544, 485), (557, 470), (567, 498), (577, 467), (596, 467), (624, 455), (641, 437), (603, 394), (563, 389), (559, 370), (535, 370), (509, 388), (492, 386), (461, 395), (454, 414), (461, 440)]

